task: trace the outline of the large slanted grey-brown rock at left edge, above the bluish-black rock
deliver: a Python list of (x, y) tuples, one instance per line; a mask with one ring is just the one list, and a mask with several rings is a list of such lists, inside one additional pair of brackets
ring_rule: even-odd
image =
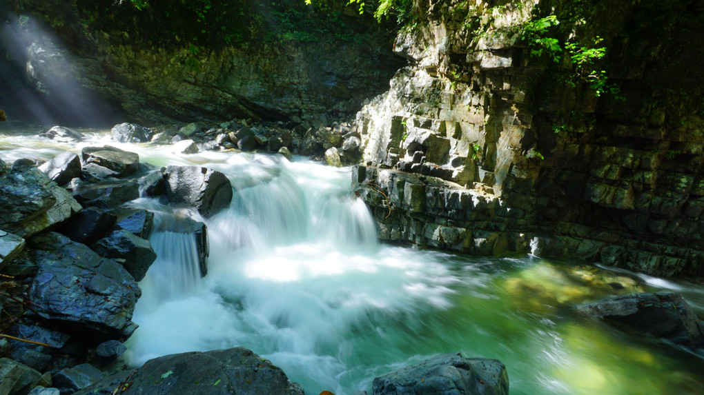
[(23, 238), (56, 226), (82, 207), (36, 167), (0, 176), (0, 229)]

